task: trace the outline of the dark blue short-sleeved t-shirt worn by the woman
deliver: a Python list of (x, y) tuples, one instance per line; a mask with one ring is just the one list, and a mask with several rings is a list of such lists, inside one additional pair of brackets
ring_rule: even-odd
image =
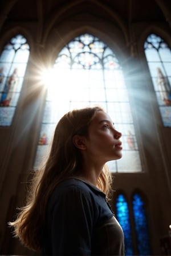
[(124, 255), (123, 230), (105, 194), (79, 179), (52, 192), (42, 237), (43, 255)]

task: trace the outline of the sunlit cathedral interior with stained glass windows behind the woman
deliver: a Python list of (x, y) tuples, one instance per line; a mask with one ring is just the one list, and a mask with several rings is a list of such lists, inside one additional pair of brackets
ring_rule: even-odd
[(127, 255), (171, 255), (170, 0), (1, 0), (0, 254), (32, 255), (8, 222), (70, 109), (123, 136), (109, 162)]

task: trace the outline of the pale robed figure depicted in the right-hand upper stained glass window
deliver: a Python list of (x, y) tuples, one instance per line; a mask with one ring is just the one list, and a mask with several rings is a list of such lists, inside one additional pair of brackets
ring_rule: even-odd
[(160, 68), (157, 68), (156, 82), (162, 101), (165, 105), (171, 105), (171, 89)]

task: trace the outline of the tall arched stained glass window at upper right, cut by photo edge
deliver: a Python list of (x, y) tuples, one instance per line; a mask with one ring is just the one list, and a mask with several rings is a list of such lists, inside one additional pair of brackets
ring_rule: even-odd
[(171, 51), (155, 34), (146, 38), (144, 50), (163, 124), (171, 127)]

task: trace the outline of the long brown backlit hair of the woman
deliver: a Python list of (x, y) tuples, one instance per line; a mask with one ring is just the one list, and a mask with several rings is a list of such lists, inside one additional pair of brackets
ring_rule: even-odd
[[(20, 209), (17, 219), (10, 222), (15, 237), (31, 250), (39, 250), (42, 239), (46, 204), (56, 184), (75, 176), (82, 170), (82, 155), (74, 146), (74, 135), (88, 136), (88, 127), (99, 107), (83, 108), (68, 112), (56, 125), (50, 155), (44, 168), (35, 171), (26, 206)], [(97, 180), (97, 187), (107, 196), (111, 191), (111, 175), (107, 166)]]

